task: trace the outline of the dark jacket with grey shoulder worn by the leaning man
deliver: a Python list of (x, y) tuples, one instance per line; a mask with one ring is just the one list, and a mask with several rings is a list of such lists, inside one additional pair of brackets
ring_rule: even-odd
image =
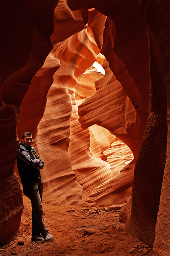
[(17, 167), (22, 185), (24, 185), (41, 179), (40, 169), (43, 169), (44, 162), (33, 146), (20, 142), (17, 154)]

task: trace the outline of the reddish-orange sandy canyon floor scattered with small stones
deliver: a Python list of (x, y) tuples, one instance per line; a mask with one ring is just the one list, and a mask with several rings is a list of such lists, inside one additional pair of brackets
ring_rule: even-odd
[[(131, 237), (119, 222), (119, 211), (104, 208), (43, 204), (44, 219), (54, 241), (31, 241), (31, 204), (23, 196), (20, 230), (0, 248), (0, 256), (153, 256), (152, 250)], [(23, 245), (18, 243), (23, 242)]]

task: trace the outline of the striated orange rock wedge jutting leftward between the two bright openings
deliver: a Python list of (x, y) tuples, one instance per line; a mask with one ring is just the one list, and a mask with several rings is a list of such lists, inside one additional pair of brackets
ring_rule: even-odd
[[(130, 139), (125, 130), (125, 93), (122, 91), (122, 85), (111, 72), (107, 61), (104, 61), (103, 67), (105, 76), (96, 81), (96, 93), (79, 105), (79, 122), (82, 128), (98, 124), (111, 131), (116, 137), (120, 136), (120, 139), (123, 138), (123, 141), (130, 147), (136, 157), (137, 143)], [(131, 102), (129, 103), (131, 104)], [(96, 105), (99, 105), (100, 110), (96, 109)], [(134, 108), (132, 108), (132, 111), (133, 116), (130, 122), (135, 122), (136, 113)]]

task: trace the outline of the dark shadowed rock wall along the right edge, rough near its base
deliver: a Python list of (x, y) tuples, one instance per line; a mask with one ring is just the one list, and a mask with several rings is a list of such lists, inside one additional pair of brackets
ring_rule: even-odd
[[(169, 100), (170, 76), (168, 35), (170, 13), (166, 8), (169, 3), (165, 2), (141, 1), (149, 38), (150, 114), (135, 167), (132, 214), (127, 223), (127, 230), (139, 239), (151, 246), (154, 243), (156, 255), (170, 253), (169, 228), (166, 224), (169, 219), (169, 204), (167, 205), (169, 200), (169, 185), (167, 185), (169, 180), (169, 171), (167, 171), (169, 169), (167, 168), (169, 103), (167, 104), (167, 100)], [(158, 21), (158, 17), (163, 19)]]

